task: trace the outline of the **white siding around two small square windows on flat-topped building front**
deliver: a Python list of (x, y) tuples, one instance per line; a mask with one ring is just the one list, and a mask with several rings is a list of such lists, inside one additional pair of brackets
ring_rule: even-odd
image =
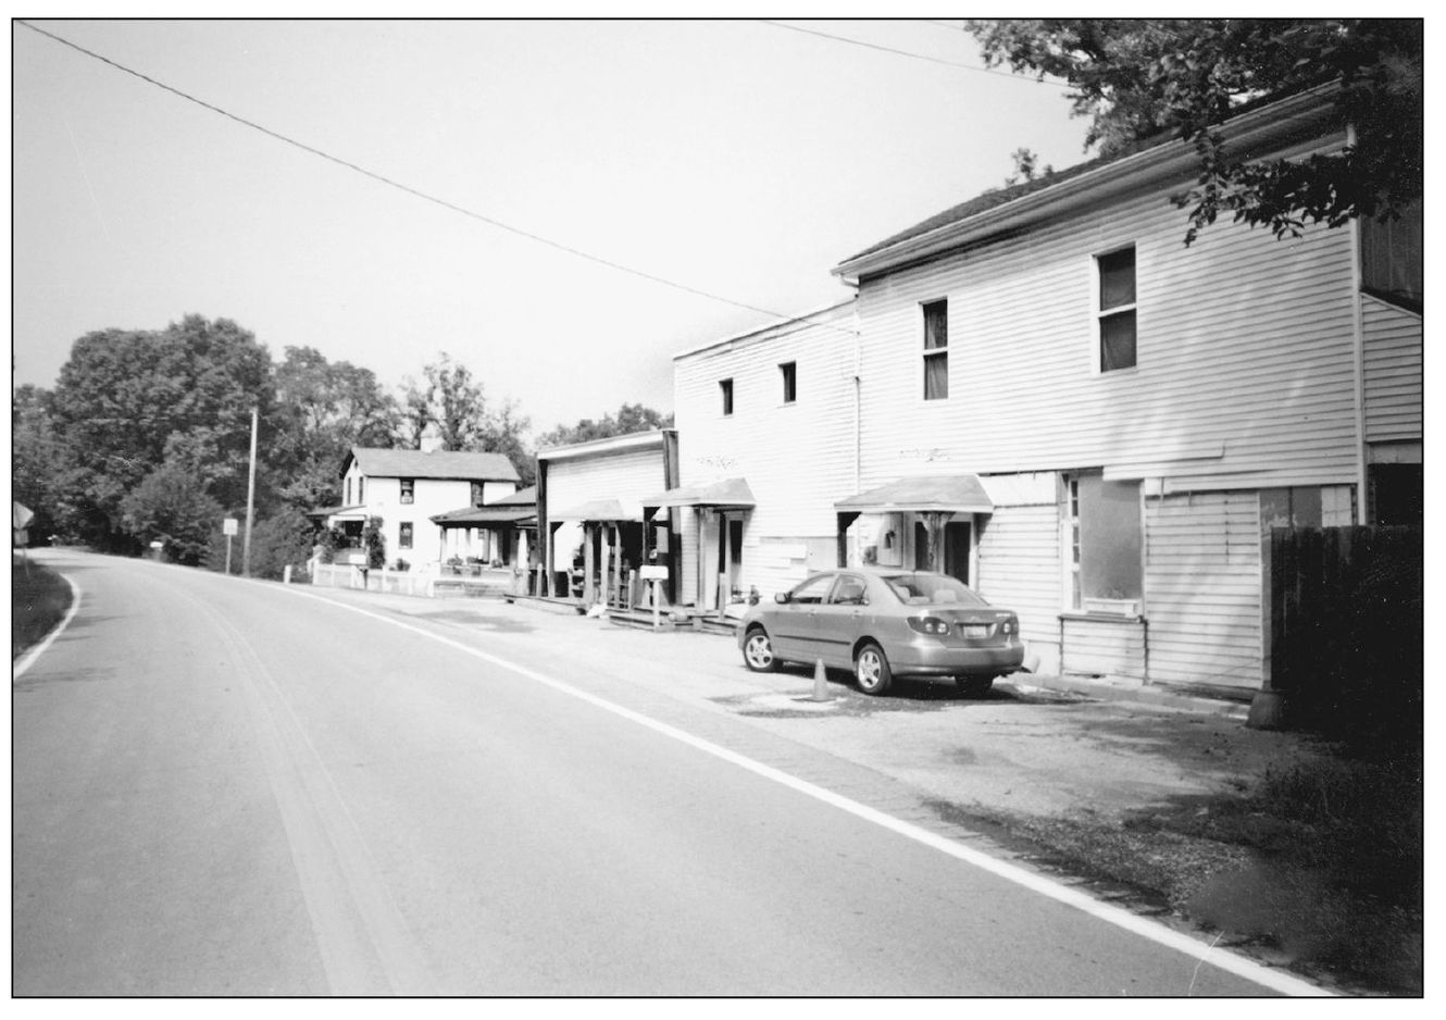
[[(833, 505), (855, 495), (853, 302), (674, 359), (680, 483), (742, 477), (758, 506), (743, 522), (739, 585), (765, 599), (833, 567)], [(794, 362), (797, 399), (779, 365)], [(723, 415), (719, 381), (733, 381)], [(684, 511), (683, 586), (697, 590), (697, 515)], [(795, 556), (795, 553), (798, 553)], [(827, 561), (823, 561), (827, 558)]]

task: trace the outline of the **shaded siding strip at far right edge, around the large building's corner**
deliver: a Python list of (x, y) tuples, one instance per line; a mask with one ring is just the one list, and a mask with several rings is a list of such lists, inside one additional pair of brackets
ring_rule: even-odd
[(1366, 443), (1421, 440), (1421, 317), (1361, 297)]

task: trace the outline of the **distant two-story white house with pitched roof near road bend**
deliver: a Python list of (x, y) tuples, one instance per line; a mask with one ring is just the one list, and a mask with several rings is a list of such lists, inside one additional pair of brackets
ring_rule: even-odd
[(327, 525), (360, 541), (366, 521), (380, 518), (386, 564), (418, 567), (450, 554), (434, 517), (516, 488), (518, 472), (500, 453), (353, 447), (341, 464), (341, 506), (328, 511)]

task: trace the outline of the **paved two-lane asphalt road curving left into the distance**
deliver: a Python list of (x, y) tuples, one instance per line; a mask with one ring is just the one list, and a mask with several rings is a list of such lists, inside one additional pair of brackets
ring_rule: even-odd
[(596, 648), (45, 556), (82, 599), (13, 690), (17, 995), (1271, 994)]

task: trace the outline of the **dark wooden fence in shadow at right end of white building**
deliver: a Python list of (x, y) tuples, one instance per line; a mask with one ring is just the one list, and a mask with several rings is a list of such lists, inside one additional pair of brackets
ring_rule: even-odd
[(1303, 725), (1419, 712), (1421, 557), (1420, 528), (1271, 531), (1271, 689)]

